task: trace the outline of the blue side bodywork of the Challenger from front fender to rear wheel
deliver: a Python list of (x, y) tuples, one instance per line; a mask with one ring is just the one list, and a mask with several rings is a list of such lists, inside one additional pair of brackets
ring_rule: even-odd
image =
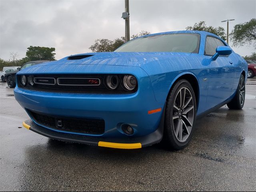
[(212, 56), (204, 55), (205, 39), (206, 34), (201, 34), (199, 54), (158, 57), (158, 60), (141, 66), (150, 76), (157, 101), (166, 100), (173, 83), (183, 74), (192, 74), (198, 80), (198, 115), (234, 96), (245, 66), (243, 59), (232, 52), (228, 57), (219, 56), (216, 61), (212, 60)]

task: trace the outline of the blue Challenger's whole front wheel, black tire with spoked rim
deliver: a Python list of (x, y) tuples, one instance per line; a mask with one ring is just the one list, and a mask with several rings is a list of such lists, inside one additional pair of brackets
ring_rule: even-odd
[[(182, 90), (184, 91), (182, 92)], [(182, 98), (182, 94), (184, 94), (184, 97), (183, 97), (184, 99)], [(180, 98), (180, 101), (183, 100), (183, 105), (182, 105), (182, 102), (178, 102), (179, 98)], [(192, 98), (191, 99), (192, 101), (190, 100), (190, 98)], [(186, 104), (186, 107), (184, 103)], [(187, 114), (185, 114), (187, 118), (184, 118), (184, 113), (186, 113), (185, 110), (187, 111), (187, 108), (191, 108), (192, 105), (193, 105), (193, 108), (188, 112), (189, 113), (193, 112), (194, 116), (193, 117), (191, 117), (191, 115), (188, 116), (188, 112), (187, 112)], [(185, 119), (187, 120), (189, 119), (189, 121), (186, 121)], [(175, 121), (177, 123), (175, 123)], [(192, 126), (187, 126), (186, 124), (188, 122), (190, 122), (190, 125), (192, 124)], [(181, 126), (180, 126), (180, 123), (181, 123)], [(170, 93), (168, 94), (168, 97), (166, 100), (163, 142), (166, 144), (166, 146), (169, 149), (180, 150), (184, 148), (185, 146), (188, 145), (188, 143), (191, 140), (195, 123), (196, 123), (196, 96), (194, 94), (194, 90), (191, 84), (187, 80), (184, 80), (184, 79), (178, 80), (170, 90)], [(190, 132), (188, 128), (191, 129)], [(180, 134), (180, 138), (179, 138), (179, 134)], [(182, 140), (183, 139), (182, 135), (184, 136), (184, 138), (186, 138), (185, 140)]]

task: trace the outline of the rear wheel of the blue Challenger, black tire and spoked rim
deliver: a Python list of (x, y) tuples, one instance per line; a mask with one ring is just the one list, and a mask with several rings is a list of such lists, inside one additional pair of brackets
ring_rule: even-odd
[(245, 82), (241, 74), (234, 98), (227, 104), (230, 109), (242, 109), (245, 100)]

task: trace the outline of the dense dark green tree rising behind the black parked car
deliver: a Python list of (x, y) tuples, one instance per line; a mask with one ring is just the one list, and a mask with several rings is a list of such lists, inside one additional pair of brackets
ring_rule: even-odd
[(36, 60), (55, 60), (54, 55), (55, 48), (40, 47), (40, 46), (30, 46), (27, 48), (26, 56), (30, 61)]

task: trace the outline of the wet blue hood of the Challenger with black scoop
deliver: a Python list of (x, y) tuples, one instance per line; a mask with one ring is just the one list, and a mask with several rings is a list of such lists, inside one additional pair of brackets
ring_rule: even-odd
[[(60, 71), (88, 71), (91, 67), (97, 67), (98, 70), (103, 66), (130, 66), (141, 67), (145, 70), (151, 64), (173, 62), (177, 64), (177, 59), (187, 60), (190, 53), (178, 53), (178, 52), (98, 52), (98, 53), (86, 53), (71, 55), (62, 58), (58, 61), (46, 62), (37, 64), (36, 66), (28, 67), (21, 73), (52, 73)], [(86, 67), (88, 66), (88, 68)], [(101, 67), (102, 66), (102, 67)]]

